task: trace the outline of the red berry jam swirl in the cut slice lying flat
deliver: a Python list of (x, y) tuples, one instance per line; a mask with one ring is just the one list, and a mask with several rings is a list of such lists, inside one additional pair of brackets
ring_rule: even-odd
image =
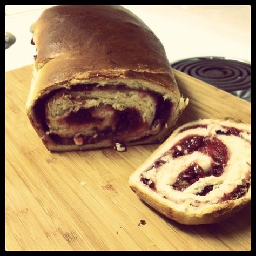
[[(194, 125), (186, 127), (185, 129), (180, 130), (180, 132), (188, 129), (196, 129), (198, 127), (207, 128), (207, 125)], [(216, 131), (217, 135), (233, 135), (241, 137), (240, 133), (249, 134), (244, 130), (234, 127), (222, 127), (223, 129)], [(171, 184), (171, 187), (174, 190), (184, 191), (186, 190), (186, 188), (196, 183), (200, 178), (208, 176), (220, 177), (223, 174), (224, 168), (227, 165), (228, 159), (230, 158), (229, 151), (227, 149), (227, 146), (217, 137), (213, 137), (213, 135), (188, 135), (184, 137), (178, 143), (173, 145), (170, 150), (166, 151), (163, 156), (157, 159), (154, 162), (152, 169), (158, 169), (159, 167), (163, 166), (166, 161), (168, 161), (165, 159), (170, 159), (170, 157), (172, 159), (175, 159), (181, 156), (192, 154), (195, 151), (198, 151), (212, 158), (210, 168), (204, 170), (196, 161), (193, 161), (185, 170), (181, 171), (178, 174), (176, 180), (174, 180)], [(224, 196), (222, 196), (219, 201), (235, 200), (245, 196), (250, 188), (250, 179), (251, 176), (248, 175), (245, 179), (242, 180), (242, 184), (235, 186), (235, 188), (231, 192), (224, 193)], [(142, 176), (140, 178), (140, 181), (156, 191), (156, 184), (151, 179), (144, 178)], [(201, 188), (201, 190), (197, 190), (197, 192), (195, 192), (194, 194), (197, 196), (206, 196), (208, 193), (213, 191), (213, 189), (213, 184), (205, 185)], [(164, 196), (164, 198), (166, 197)]]

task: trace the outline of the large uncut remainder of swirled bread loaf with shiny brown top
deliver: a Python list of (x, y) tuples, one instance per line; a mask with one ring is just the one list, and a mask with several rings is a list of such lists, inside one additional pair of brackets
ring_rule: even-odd
[(51, 151), (163, 141), (188, 99), (164, 46), (117, 5), (59, 5), (32, 25), (37, 56), (26, 103)]

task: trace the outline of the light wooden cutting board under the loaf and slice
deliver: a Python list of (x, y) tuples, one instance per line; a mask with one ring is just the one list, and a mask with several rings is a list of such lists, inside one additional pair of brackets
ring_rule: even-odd
[[(47, 151), (25, 113), (31, 72), (32, 66), (25, 66), (6, 73), (6, 250), (251, 249), (250, 206), (223, 223), (187, 226), (154, 211), (130, 190), (130, 174), (158, 144), (122, 153)], [(226, 116), (251, 122), (250, 103), (174, 73), (190, 98), (179, 124)]]

